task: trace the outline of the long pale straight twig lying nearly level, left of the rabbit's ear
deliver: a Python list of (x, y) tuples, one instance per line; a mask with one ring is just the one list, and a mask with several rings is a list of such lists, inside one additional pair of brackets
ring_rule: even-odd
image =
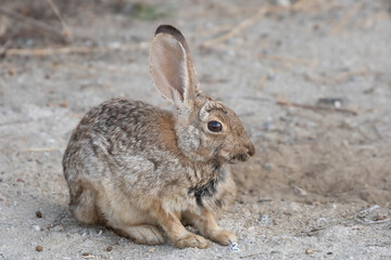
[(133, 51), (148, 47), (144, 42), (125, 46), (106, 46), (106, 47), (64, 47), (48, 49), (9, 49), (7, 55), (13, 56), (48, 56), (56, 54), (71, 53), (91, 53), (91, 52), (109, 52), (109, 51)]

